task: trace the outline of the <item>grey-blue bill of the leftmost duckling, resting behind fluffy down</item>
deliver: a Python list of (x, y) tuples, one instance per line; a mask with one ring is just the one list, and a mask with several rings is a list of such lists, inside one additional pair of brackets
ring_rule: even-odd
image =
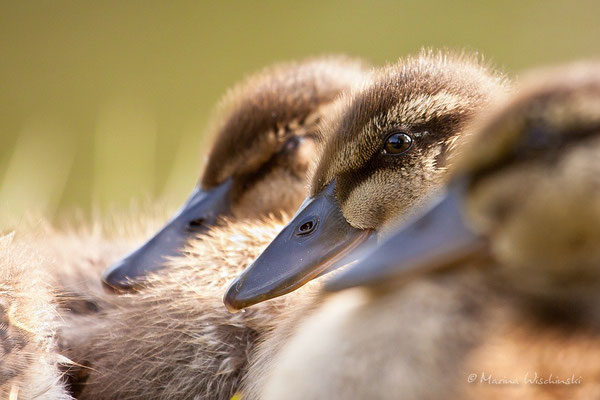
[(140, 286), (148, 274), (165, 267), (169, 257), (181, 255), (187, 241), (205, 233), (228, 215), (232, 181), (211, 189), (196, 188), (181, 210), (150, 240), (102, 274), (108, 291), (130, 291)]

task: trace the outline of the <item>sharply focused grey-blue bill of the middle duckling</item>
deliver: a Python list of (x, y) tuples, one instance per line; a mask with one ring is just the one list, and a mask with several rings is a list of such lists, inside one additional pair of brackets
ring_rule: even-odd
[[(229, 286), (223, 302), (234, 312), (290, 293), (324, 271), (347, 262), (347, 255), (372, 231), (352, 227), (334, 194), (335, 182), (307, 199), (292, 221)], [(307, 228), (309, 225), (312, 229)]]

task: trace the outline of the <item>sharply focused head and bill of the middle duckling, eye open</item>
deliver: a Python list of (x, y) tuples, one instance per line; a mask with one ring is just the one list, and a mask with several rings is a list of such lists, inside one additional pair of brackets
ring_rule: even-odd
[(289, 293), (408, 215), (442, 184), (457, 137), (502, 83), (473, 59), (423, 52), (346, 94), (324, 124), (328, 139), (309, 197), (231, 284), (226, 306)]

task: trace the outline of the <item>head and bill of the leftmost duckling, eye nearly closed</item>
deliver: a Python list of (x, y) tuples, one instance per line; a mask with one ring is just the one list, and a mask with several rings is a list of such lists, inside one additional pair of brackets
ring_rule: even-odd
[(104, 272), (105, 287), (134, 289), (221, 217), (293, 212), (306, 195), (323, 114), (365, 75), (359, 61), (323, 57), (267, 68), (230, 90), (214, 118), (216, 140), (198, 185), (154, 237)]

